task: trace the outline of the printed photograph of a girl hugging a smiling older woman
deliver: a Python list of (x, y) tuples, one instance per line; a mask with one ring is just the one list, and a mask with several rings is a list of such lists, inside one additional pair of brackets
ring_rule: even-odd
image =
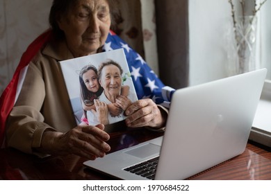
[(76, 122), (108, 125), (138, 100), (123, 48), (60, 62)]

